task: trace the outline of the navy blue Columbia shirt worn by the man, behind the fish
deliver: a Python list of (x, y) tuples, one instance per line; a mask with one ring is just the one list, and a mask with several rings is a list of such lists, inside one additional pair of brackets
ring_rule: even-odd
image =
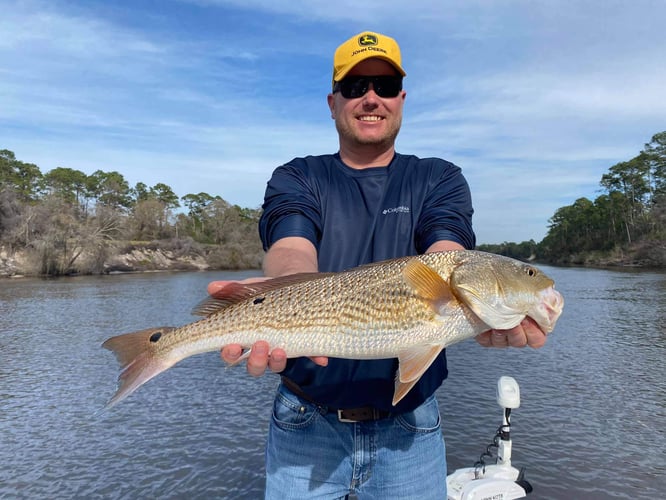
[[(259, 233), (268, 249), (301, 236), (317, 249), (319, 271), (424, 253), (439, 240), (473, 249), (472, 201), (460, 169), (438, 159), (396, 154), (387, 167), (353, 169), (339, 154), (296, 158), (268, 182)], [(328, 366), (290, 359), (283, 375), (332, 408), (374, 406), (405, 412), (447, 376), (444, 352), (393, 407), (397, 359), (330, 358)]]

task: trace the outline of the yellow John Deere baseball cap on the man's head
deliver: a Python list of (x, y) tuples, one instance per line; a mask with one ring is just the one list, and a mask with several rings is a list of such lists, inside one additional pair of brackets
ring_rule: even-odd
[(333, 83), (342, 80), (358, 63), (370, 57), (384, 59), (391, 63), (402, 76), (406, 76), (402, 69), (400, 47), (393, 38), (364, 31), (351, 37), (335, 50), (333, 56)]

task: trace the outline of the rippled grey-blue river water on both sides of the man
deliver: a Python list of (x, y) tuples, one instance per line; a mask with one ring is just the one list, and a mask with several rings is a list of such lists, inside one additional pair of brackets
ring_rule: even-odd
[[(566, 300), (543, 349), (449, 349), (438, 391), (449, 469), (501, 423), (511, 375), (513, 463), (534, 499), (666, 494), (666, 274), (548, 268)], [(0, 498), (260, 498), (277, 377), (183, 361), (112, 411), (109, 336), (193, 319), (217, 278), (158, 273), (0, 281)]]

